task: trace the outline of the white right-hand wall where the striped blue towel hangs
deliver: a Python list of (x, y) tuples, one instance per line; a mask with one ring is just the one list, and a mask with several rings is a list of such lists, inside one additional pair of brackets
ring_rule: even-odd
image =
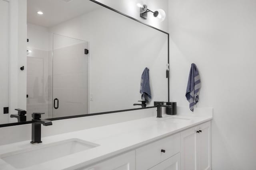
[(186, 106), (190, 64), (198, 107), (213, 107), (212, 169), (255, 170), (256, 1), (169, 0), (170, 96)]

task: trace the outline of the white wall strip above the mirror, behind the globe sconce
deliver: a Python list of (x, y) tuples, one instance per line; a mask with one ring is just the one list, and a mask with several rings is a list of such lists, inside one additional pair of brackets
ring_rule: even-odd
[[(168, 32), (168, 0), (97, 0), (98, 2), (105, 4), (115, 10), (118, 10), (128, 16), (143, 21), (149, 25), (152, 25), (158, 29)], [(144, 20), (140, 18), (140, 8), (137, 7), (138, 2), (146, 2), (148, 9), (155, 11), (162, 9), (166, 13), (166, 19), (162, 22), (154, 18), (152, 13), (148, 13), (148, 19)]]

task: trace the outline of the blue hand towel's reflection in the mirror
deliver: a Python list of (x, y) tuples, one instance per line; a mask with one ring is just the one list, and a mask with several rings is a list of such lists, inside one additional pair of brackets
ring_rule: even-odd
[(149, 69), (148, 68), (144, 69), (142, 76), (141, 76), (140, 94), (141, 94), (141, 99), (146, 101), (146, 104), (149, 104), (151, 101), (151, 90), (150, 90), (150, 84), (149, 84)]

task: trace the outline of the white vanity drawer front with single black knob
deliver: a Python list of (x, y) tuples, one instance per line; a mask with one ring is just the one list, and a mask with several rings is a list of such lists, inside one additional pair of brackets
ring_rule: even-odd
[(180, 133), (136, 149), (136, 169), (147, 170), (178, 152), (180, 152)]

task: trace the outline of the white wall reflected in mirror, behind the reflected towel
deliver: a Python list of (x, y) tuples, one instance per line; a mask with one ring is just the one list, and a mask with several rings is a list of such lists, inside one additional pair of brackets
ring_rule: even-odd
[(50, 31), (90, 42), (90, 113), (136, 108), (132, 105), (141, 99), (140, 79), (145, 67), (150, 69), (152, 101), (167, 101), (166, 34), (107, 8)]

